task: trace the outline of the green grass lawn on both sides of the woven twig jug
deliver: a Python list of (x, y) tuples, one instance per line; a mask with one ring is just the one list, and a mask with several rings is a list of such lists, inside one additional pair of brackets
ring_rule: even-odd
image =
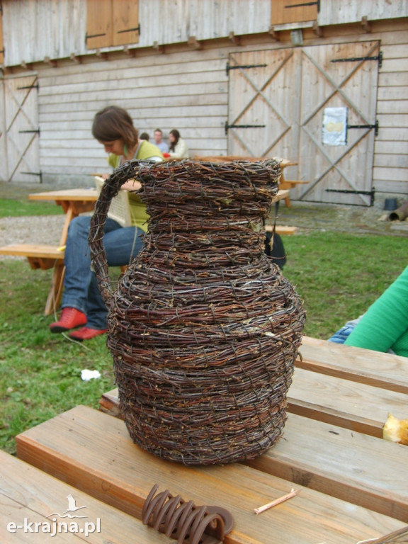
[[(305, 334), (322, 339), (362, 314), (407, 264), (404, 237), (315, 232), (285, 237), (284, 244), (284, 274), (307, 310)], [(114, 387), (106, 337), (77, 344), (50, 333), (55, 317), (42, 315), (50, 281), (51, 271), (0, 259), (0, 448), (10, 453), (16, 434), (77, 404), (97, 408)], [(84, 382), (85, 368), (101, 378)]]

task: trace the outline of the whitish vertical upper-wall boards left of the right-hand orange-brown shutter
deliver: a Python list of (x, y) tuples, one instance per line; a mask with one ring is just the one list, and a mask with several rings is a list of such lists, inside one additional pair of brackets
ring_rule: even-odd
[[(8, 66), (95, 52), (86, 48), (86, 0), (3, 0), (3, 13)], [(271, 0), (140, 0), (139, 20), (140, 40), (132, 47), (263, 33)]]

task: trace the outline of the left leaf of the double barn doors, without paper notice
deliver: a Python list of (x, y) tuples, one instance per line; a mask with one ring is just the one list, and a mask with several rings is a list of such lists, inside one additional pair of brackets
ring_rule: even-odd
[(228, 154), (297, 157), (300, 51), (229, 55)]

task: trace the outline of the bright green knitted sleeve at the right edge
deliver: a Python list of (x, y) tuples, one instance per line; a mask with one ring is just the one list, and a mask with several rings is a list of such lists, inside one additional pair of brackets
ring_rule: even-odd
[(408, 357), (408, 266), (368, 308), (344, 344), (383, 353), (391, 349)]

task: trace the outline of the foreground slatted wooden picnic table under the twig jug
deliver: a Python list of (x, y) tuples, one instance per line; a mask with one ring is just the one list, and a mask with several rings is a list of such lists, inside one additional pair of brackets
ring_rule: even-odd
[[(145, 499), (158, 484), (196, 505), (227, 509), (234, 519), (227, 544), (375, 543), (408, 531), (408, 448), (381, 438), (388, 412), (408, 415), (407, 358), (304, 337), (283, 436), (247, 463), (161, 460), (132, 443), (117, 403), (111, 390), (100, 410), (77, 406), (17, 436), (18, 459), (0, 464), (10, 521), (26, 513), (40, 521), (71, 494), (101, 520), (99, 540), (93, 533), (89, 542), (173, 543), (142, 525)], [(293, 498), (254, 513), (291, 489)], [(3, 523), (1, 542), (11, 541), (7, 535)]]

